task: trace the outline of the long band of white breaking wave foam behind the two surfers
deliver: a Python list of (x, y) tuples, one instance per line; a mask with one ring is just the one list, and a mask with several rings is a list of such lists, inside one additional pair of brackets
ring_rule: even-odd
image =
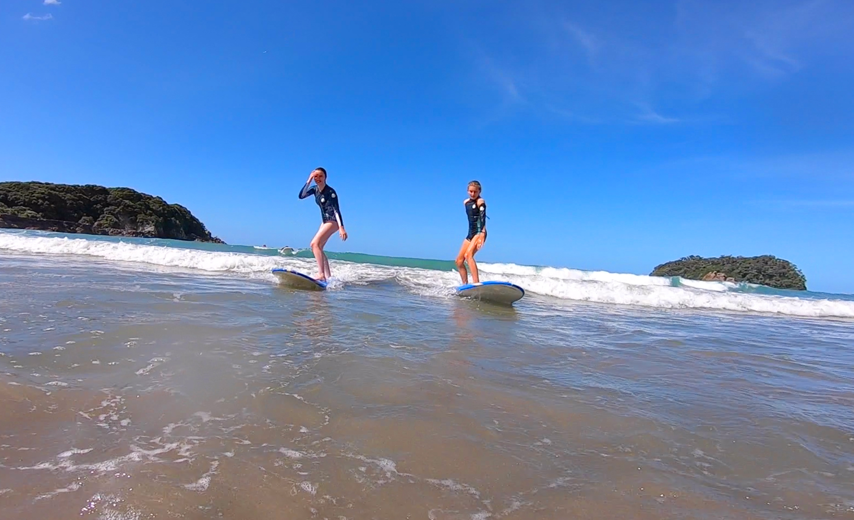
[[(0, 249), (35, 254), (89, 255), (106, 260), (207, 272), (234, 272), (254, 278), (266, 278), (271, 282), (276, 280), (270, 274), (274, 267), (288, 267), (303, 272), (313, 272), (314, 269), (313, 259), (285, 259), (281, 256), (202, 251), (85, 238), (32, 237), (20, 233), (0, 232)], [(419, 295), (449, 297), (453, 294), (453, 287), (459, 284), (459, 276), (452, 270), (435, 271), (336, 260), (331, 263), (336, 278), (336, 283), (330, 285), (331, 289), (346, 284), (394, 279)], [(775, 313), (813, 318), (854, 318), (854, 301), (744, 293), (739, 292), (740, 285), (735, 283), (679, 279), (675, 284), (670, 278), (629, 273), (517, 264), (480, 263), (478, 266), (482, 272), (482, 281), (504, 280), (517, 283), (529, 294), (551, 296), (561, 300), (668, 309)]]

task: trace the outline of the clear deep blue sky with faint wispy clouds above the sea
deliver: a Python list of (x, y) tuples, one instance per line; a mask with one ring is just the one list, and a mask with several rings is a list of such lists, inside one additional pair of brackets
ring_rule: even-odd
[(226, 242), (647, 273), (775, 254), (854, 292), (854, 3), (0, 4), (0, 180), (129, 186)]

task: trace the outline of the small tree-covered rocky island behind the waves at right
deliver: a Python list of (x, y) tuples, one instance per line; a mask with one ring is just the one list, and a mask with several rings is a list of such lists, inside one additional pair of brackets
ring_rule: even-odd
[(792, 262), (781, 260), (770, 254), (717, 258), (686, 256), (657, 266), (650, 276), (758, 283), (775, 289), (806, 290), (804, 273)]

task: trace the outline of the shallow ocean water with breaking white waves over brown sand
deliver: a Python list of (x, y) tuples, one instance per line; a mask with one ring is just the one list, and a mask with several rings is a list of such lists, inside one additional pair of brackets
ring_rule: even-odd
[(854, 518), (854, 296), (0, 231), (0, 517)]

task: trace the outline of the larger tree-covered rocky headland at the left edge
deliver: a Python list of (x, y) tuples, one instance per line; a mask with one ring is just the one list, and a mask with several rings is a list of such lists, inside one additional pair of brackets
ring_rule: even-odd
[(225, 243), (184, 206), (94, 184), (0, 183), (0, 227)]

